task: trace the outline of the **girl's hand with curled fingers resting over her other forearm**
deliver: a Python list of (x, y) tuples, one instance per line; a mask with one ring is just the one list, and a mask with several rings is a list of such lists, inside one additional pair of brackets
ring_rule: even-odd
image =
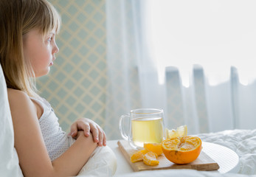
[(86, 137), (89, 136), (89, 133), (92, 133), (94, 142), (97, 142), (99, 146), (106, 145), (105, 132), (96, 122), (87, 118), (77, 119), (70, 128), (69, 135), (73, 138), (77, 137), (77, 131), (83, 131)]

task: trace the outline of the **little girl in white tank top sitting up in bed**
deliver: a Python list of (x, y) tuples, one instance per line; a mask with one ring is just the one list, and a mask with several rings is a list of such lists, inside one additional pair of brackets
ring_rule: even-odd
[[(113, 174), (115, 157), (105, 146), (103, 129), (82, 118), (66, 135), (49, 103), (36, 93), (35, 77), (48, 74), (59, 51), (59, 29), (60, 17), (46, 0), (0, 1), (0, 63), (21, 170), (24, 176), (56, 177), (105, 167), (106, 175)], [(99, 156), (107, 156), (112, 166), (100, 164)]]

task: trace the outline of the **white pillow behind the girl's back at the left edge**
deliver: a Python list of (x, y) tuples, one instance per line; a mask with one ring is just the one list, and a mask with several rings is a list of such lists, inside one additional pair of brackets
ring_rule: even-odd
[(0, 176), (23, 176), (14, 148), (13, 120), (7, 97), (7, 86), (0, 65)]

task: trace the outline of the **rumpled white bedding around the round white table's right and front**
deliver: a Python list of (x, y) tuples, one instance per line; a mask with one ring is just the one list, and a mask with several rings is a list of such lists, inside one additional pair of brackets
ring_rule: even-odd
[(240, 158), (240, 170), (238, 173), (218, 173), (216, 171), (197, 170), (151, 170), (138, 173), (126, 173), (120, 176), (205, 176), (205, 177), (240, 177), (256, 176), (256, 129), (255, 130), (232, 130), (217, 133), (198, 134), (202, 141), (223, 145), (234, 150)]

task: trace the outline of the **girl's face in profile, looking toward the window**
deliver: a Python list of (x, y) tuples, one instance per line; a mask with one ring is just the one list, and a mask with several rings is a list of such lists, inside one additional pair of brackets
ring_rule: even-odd
[(49, 72), (55, 60), (55, 53), (59, 51), (55, 43), (55, 31), (42, 38), (38, 30), (31, 30), (23, 36), (23, 51), (25, 60), (29, 60), (35, 77), (41, 77)]

